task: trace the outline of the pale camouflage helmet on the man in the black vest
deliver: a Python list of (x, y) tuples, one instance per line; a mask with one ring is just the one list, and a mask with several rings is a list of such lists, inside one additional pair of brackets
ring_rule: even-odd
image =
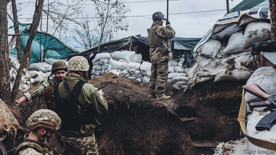
[(74, 56), (68, 62), (68, 71), (88, 71), (89, 64), (85, 57)]

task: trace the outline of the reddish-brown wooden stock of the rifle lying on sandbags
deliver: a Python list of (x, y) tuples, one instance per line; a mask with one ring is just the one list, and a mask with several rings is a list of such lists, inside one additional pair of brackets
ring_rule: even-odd
[(244, 85), (242, 88), (245, 89), (248, 93), (257, 96), (262, 100), (266, 100), (267, 97), (271, 97), (271, 95), (268, 95), (266, 91), (264, 91), (259, 85), (256, 84)]

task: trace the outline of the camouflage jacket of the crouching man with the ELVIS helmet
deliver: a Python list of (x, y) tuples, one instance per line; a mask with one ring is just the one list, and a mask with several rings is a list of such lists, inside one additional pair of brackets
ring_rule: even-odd
[(54, 155), (52, 150), (48, 150), (42, 142), (28, 139), (29, 134), (24, 135), (24, 142), (16, 147), (15, 155)]

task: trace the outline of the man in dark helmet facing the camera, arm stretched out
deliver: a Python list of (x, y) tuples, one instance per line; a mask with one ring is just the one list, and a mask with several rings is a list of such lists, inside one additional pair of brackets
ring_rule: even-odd
[[(52, 101), (52, 95), (54, 92), (54, 87), (59, 82), (62, 82), (66, 76), (67, 66), (63, 61), (55, 61), (52, 65), (51, 75), (54, 74), (55, 77), (52, 79), (47, 79), (42, 84), (38, 85), (35, 89), (27, 92), (19, 100), (15, 100), (15, 104), (19, 105), (26, 101), (35, 99), (38, 96), (46, 97), (46, 106), (48, 109), (53, 110), (54, 102)], [(50, 75), (50, 76), (51, 76)]]

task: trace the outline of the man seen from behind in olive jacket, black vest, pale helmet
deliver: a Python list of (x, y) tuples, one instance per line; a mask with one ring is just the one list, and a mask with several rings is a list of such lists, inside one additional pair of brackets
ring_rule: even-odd
[(54, 89), (55, 111), (62, 120), (62, 127), (55, 134), (63, 155), (98, 155), (95, 116), (105, 114), (108, 107), (102, 90), (86, 81), (88, 70), (86, 58), (71, 58), (68, 62), (71, 75)]

